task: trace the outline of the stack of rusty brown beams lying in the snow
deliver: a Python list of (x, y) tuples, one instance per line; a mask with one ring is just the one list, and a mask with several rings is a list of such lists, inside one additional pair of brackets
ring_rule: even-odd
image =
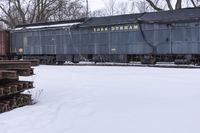
[(38, 60), (0, 61), (0, 113), (32, 104), (29, 94), (21, 94), (34, 88), (31, 81), (19, 81), (19, 76), (33, 75), (31, 66), (38, 66)]

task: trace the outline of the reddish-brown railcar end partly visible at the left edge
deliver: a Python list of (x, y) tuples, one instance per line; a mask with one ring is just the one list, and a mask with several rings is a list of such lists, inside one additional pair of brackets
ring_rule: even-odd
[(9, 31), (0, 31), (0, 60), (8, 59), (10, 56)]

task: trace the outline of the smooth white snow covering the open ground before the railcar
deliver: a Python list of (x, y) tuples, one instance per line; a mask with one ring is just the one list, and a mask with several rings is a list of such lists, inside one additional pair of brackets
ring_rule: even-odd
[(200, 133), (200, 69), (40, 66), (35, 73), (39, 102), (0, 114), (0, 133)]

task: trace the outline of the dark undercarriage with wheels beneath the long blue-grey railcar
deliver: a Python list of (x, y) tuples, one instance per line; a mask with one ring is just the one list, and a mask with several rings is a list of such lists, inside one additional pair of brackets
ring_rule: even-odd
[[(16, 56), (15, 56), (16, 58)], [(200, 55), (126, 55), (126, 54), (69, 54), (69, 55), (19, 55), (18, 59), (39, 59), (40, 64), (46, 65), (62, 65), (65, 62), (94, 62), (96, 63), (130, 63), (140, 62), (141, 64), (156, 64), (157, 62), (174, 62), (177, 65), (200, 65)]]

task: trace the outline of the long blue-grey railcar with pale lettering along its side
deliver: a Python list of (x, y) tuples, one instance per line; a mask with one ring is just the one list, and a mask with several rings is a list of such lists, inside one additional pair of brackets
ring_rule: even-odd
[(21, 25), (11, 31), (11, 50), (46, 64), (180, 60), (199, 63), (199, 12), (200, 8), (188, 8)]

